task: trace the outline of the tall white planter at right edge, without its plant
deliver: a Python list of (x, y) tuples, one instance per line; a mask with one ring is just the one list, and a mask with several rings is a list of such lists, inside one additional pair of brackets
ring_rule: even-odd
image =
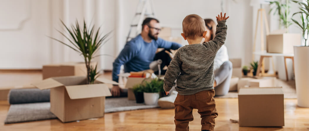
[(309, 46), (294, 46), (294, 62), (298, 106), (309, 108)]

